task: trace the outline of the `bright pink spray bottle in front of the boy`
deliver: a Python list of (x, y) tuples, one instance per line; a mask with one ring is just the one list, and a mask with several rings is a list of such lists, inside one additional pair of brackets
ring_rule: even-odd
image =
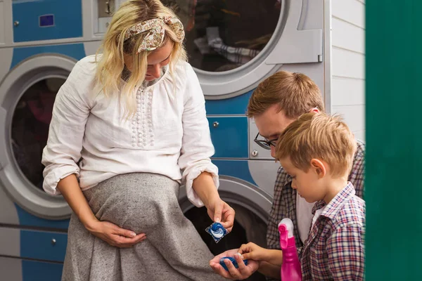
[(295, 237), (293, 236), (293, 222), (290, 218), (283, 218), (279, 223), (280, 247), (283, 251), (283, 264), (281, 265), (281, 280), (302, 281), (302, 271)]

